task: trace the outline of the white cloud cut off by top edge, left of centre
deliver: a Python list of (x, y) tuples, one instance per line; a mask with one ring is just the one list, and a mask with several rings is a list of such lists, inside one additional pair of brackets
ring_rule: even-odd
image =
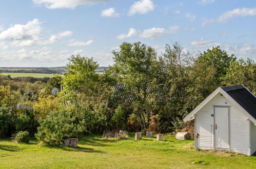
[(74, 9), (78, 5), (95, 4), (108, 2), (110, 0), (33, 0), (35, 4), (45, 5), (49, 9), (70, 8)]

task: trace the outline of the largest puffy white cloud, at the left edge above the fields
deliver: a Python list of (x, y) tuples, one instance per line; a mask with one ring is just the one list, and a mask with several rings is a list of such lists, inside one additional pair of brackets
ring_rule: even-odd
[(0, 33), (0, 40), (12, 41), (13, 46), (27, 47), (34, 45), (47, 45), (55, 43), (62, 37), (72, 35), (71, 31), (65, 31), (50, 36), (49, 39), (41, 37), (42, 27), (39, 19), (30, 20), (27, 24), (15, 24)]

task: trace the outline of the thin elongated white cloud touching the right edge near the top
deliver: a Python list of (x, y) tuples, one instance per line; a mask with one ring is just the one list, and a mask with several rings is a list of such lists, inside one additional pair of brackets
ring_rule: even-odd
[(228, 19), (238, 16), (255, 16), (256, 15), (256, 8), (237, 8), (230, 11), (227, 11), (220, 15), (217, 19), (217, 22), (223, 23), (227, 22)]

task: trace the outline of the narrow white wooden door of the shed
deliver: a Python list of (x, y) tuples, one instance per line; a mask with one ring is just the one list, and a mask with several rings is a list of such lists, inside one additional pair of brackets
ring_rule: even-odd
[(225, 150), (229, 148), (229, 120), (228, 107), (215, 107), (215, 149)]

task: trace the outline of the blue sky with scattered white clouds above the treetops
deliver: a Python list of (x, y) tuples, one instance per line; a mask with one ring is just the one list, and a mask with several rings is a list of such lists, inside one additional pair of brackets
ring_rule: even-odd
[(72, 54), (112, 64), (123, 41), (161, 54), (180, 41), (196, 53), (213, 46), (256, 60), (256, 1), (2, 0), (0, 67), (64, 66)]

